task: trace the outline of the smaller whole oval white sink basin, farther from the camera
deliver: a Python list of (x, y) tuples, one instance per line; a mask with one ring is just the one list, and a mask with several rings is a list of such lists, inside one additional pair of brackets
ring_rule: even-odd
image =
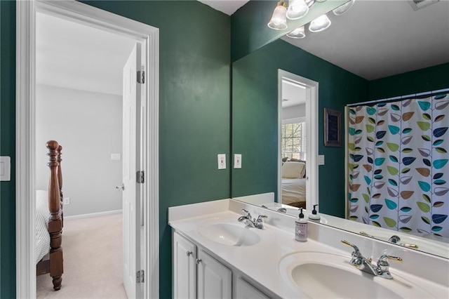
[(244, 227), (241, 223), (211, 223), (201, 225), (198, 232), (203, 237), (227, 246), (252, 246), (260, 241), (255, 228)]

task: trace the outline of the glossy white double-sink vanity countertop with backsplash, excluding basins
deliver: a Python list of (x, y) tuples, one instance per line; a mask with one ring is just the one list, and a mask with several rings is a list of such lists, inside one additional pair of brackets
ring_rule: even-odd
[[(202, 225), (206, 225), (208, 223), (212, 224), (215, 222), (232, 222), (238, 225), (242, 225), (242, 227), (245, 226), (243, 223), (237, 221), (242, 213), (234, 212), (241, 211), (242, 204), (236, 203), (234, 205), (237, 206), (234, 206), (234, 208), (230, 208), (232, 202), (232, 200), (226, 199), (216, 201), (215, 204), (213, 201), (210, 201), (203, 204), (189, 205), (190, 208), (188, 208), (187, 206), (183, 206), (182, 208), (175, 207), (175, 209), (171, 208), (171, 211), (169, 208), (168, 224), (177, 232), (180, 232), (181, 234), (185, 235), (185, 237), (192, 239), (197, 245), (215, 255), (215, 258), (224, 260), (227, 264), (236, 268), (236, 270), (239, 270), (251, 279), (254, 279), (259, 284), (269, 289), (269, 291), (271, 291), (275, 295), (278, 295), (280, 298), (309, 298), (309, 296), (305, 293), (302, 293), (299, 288), (295, 288), (281, 278), (281, 274), (279, 273), (279, 262), (282, 260), (282, 258), (286, 257), (286, 255), (290, 255), (291, 253), (309, 251), (344, 255), (348, 260), (350, 260), (352, 251), (351, 248), (340, 244), (340, 239), (342, 237), (344, 237), (345, 239), (349, 237), (349, 241), (354, 243), (357, 242), (355, 244), (357, 244), (357, 246), (361, 248), (362, 253), (367, 252), (366, 247), (373, 246), (373, 248), (371, 248), (371, 253), (373, 254), (373, 256), (375, 256), (375, 258), (378, 258), (380, 256), (380, 249), (375, 248), (377, 246), (376, 244), (378, 243), (377, 241), (369, 240), (366, 238), (365, 240), (361, 236), (353, 236), (348, 232), (340, 232), (339, 230), (335, 230), (331, 227), (326, 227), (325, 225), (318, 225), (314, 223), (309, 223), (309, 229), (311, 229), (309, 230), (309, 234), (313, 234), (314, 238), (309, 238), (306, 242), (295, 241), (293, 234), (293, 225), (295, 218), (281, 215), (281, 213), (265, 211), (262, 208), (254, 206), (252, 207), (253, 210), (250, 211), (253, 214), (253, 217), (257, 218), (257, 215), (260, 215), (260, 213), (269, 213), (269, 221), (267, 222), (271, 221), (272, 224), (279, 224), (279, 227), (277, 227), (278, 225), (274, 226), (265, 223), (263, 230), (250, 228), (250, 230), (255, 230), (255, 232), (260, 236), (260, 241), (257, 244), (253, 246), (227, 246), (204, 237), (199, 231), (201, 231)], [(187, 216), (187, 218), (184, 218), (183, 215)], [(328, 236), (323, 234), (323, 230), (330, 230), (329, 232), (326, 232), (326, 234), (330, 233), (332, 234), (332, 237), (330, 237), (330, 235)], [(349, 235), (346, 236), (345, 234)], [(354, 240), (354, 238), (362, 239), (352, 241)], [(329, 246), (328, 244), (326, 244), (326, 242), (321, 241), (323, 239), (331, 239), (330, 243), (328, 244), (333, 244), (333, 246)], [(380, 248), (383, 252), (387, 251), (387, 246), (389, 245), (385, 245), (382, 243), (380, 244)], [(396, 249), (396, 247), (393, 247), (394, 250)], [(391, 252), (389, 254), (394, 253), (394, 251)], [(400, 255), (406, 256), (404, 263), (408, 264), (405, 265), (406, 267), (399, 270), (397, 269), (396, 265), (392, 265), (396, 267), (396, 269), (391, 271), (392, 274), (398, 275), (399, 277), (403, 276), (404, 274), (405, 277), (407, 277), (407, 275), (410, 275), (409, 269), (413, 269), (413, 266), (422, 267), (422, 265), (429, 265), (429, 267), (440, 265), (440, 270), (443, 271), (442, 273), (444, 273), (448, 269), (448, 263), (445, 262), (441, 264), (441, 259), (429, 259), (427, 255), (424, 255), (424, 259), (422, 260), (422, 262), (417, 262), (416, 256), (420, 256), (420, 253), (412, 252), (410, 253), (410, 256), (408, 256), (408, 254), (408, 251), (404, 251), (401, 249)], [(412, 258), (415, 260), (411, 260)], [(401, 266), (399, 266), (399, 268), (400, 267)], [(355, 271), (357, 272), (358, 270)], [(429, 271), (434, 270), (429, 269)], [(376, 279), (382, 278), (377, 277)], [(422, 277), (419, 278), (419, 282), (421, 288), (424, 288), (426, 290), (427, 288), (436, 290), (433, 293), (436, 298), (448, 298), (449, 288), (447, 284), (442, 286), (441, 281), (438, 281), (438, 284), (435, 284), (432, 281), (423, 280)]]

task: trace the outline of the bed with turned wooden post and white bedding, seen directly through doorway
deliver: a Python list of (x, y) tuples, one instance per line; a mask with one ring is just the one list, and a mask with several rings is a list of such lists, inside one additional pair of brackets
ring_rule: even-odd
[(53, 278), (58, 291), (62, 283), (62, 147), (55, 140), (47, 142), (50, 180), (48, 190), (36, 190), (36, 275)]

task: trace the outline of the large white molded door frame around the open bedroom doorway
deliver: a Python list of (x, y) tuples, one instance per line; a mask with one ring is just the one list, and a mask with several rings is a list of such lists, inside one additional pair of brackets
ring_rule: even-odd
[(147, 237), (143, 240), (146, 272), (143, 289), (145, 298), (159, 298), (159, 29), (72, 0), (16, 2), (16, 296), (36, 298), (34, 124), (38, 12), (136, 39), (145, 48), (142, 200)]

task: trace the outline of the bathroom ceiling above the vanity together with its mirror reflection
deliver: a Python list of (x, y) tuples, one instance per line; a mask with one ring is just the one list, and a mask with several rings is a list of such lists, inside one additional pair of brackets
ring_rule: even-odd
[[(207, 2), (231, 15), (246, 1)], [(448, 0), (418, 11), (406, 0), (356, 0), (344, 15), (328, 17), (323, 32), (283, 39), (367, 80), (449, 62)]]

